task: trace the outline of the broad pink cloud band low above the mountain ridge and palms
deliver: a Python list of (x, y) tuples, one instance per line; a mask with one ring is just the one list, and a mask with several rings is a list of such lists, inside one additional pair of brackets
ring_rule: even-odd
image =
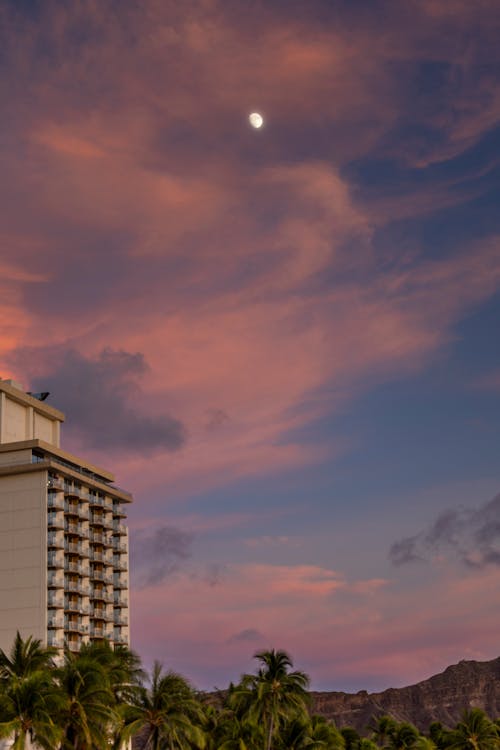
[[(384, 579), (347, 581), (317, 566), (229, 565), (215, 586), (182, 575), (161, 593), (134, 592), (141, 630), (148, 641), (153, 634), (160, 652), (151, 652), (141, 631), (135, 645), (198, 681), (216, 673), (215, 664), (234, 679), (249, 668), (253, 650), (278, 647), (316, 686), (411, 684), (460, 658), (497, 655), (498, 608), (485, 609), (484, 601), (498, 575), (458, 578), (438, 569), (408, 589)], [(176, 617), (166, 625), (172, 601)], [(233, 638), (248, 629), (259, 634), (255, 643)]]

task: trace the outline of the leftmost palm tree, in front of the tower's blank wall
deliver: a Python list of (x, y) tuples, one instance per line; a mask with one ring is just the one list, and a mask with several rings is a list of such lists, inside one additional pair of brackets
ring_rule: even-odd
[(42, 747), (59, 740), (53, 656), (53, 649), (19, 632), (9, 654), (0, 650), (0, 737), (12, 738), (14, 750), (23, 750), (28, 738)]

